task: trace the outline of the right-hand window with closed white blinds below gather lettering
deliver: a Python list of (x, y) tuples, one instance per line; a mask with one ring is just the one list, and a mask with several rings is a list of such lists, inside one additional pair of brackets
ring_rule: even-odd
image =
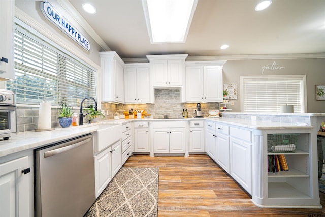
[(306, 75), (240, 76), (242, 112), (280, 112), (293, 105), (294, 112), (306, 108)]

